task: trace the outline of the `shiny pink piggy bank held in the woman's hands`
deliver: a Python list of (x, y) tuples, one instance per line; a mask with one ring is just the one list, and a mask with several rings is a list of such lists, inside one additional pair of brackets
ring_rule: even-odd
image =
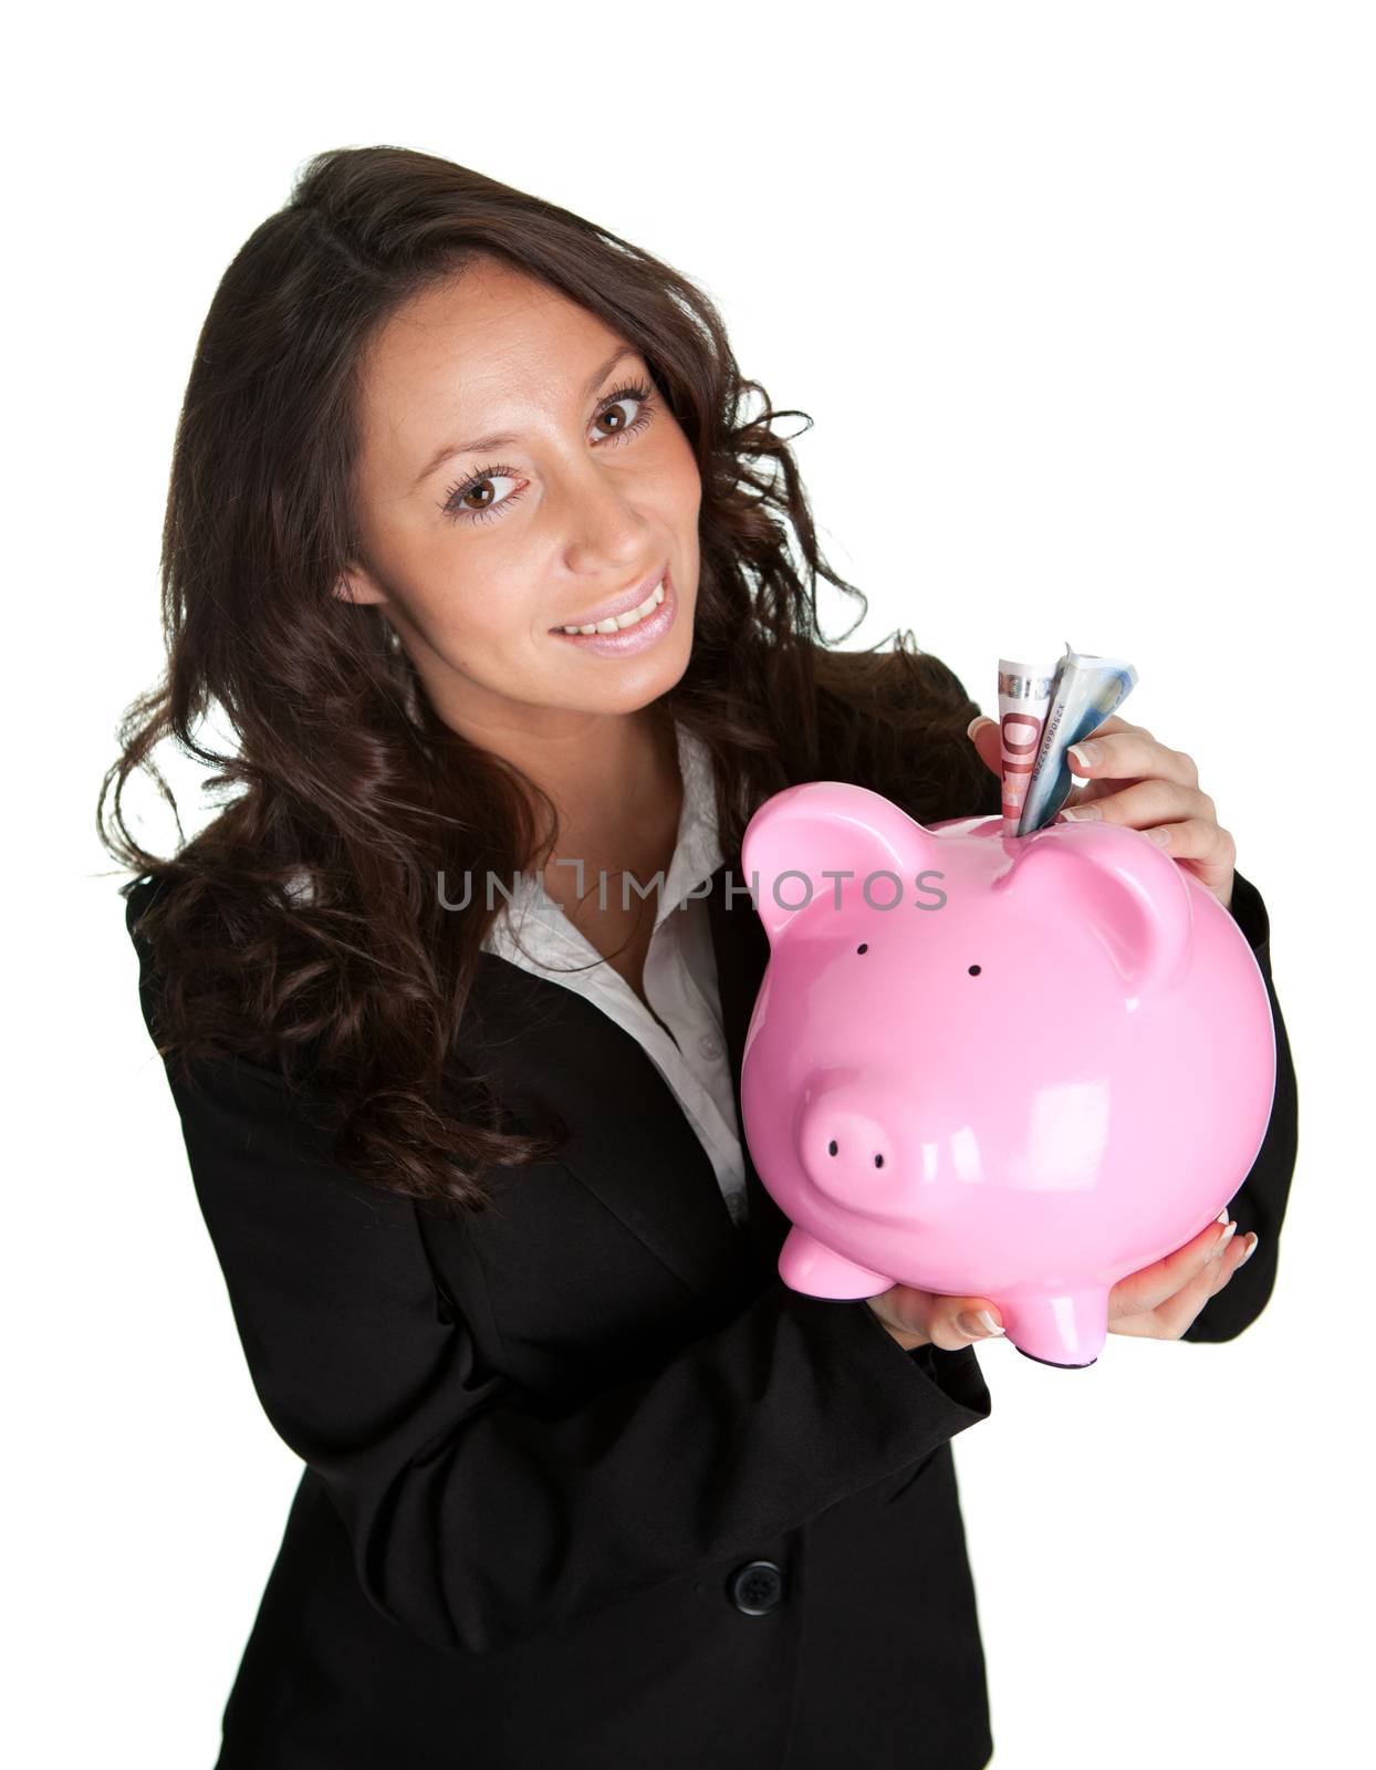
[(741, 1117), (792, 1228), (780, 1278), (999, 1306), (1084, 1366), (1107, 1294), (1219, 1214), (1275, 1092), (1247, 938), (1139, 830), (916, 823), (810, 781), (745, 832), (769, 936)]

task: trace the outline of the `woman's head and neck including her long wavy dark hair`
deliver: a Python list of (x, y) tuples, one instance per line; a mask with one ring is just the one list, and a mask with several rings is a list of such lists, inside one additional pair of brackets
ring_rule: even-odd
[[(592, 908), (566, 857), (669, 864), (676, 731), (711, 759), (727, 858), (769, 793), (844, 768), (918, 816), (987, 804), (944, 666), (819, 643), (819, 577), (865, 598), (776, 416), (711, 301), (614, 234), (398, 147), (304, 168), (202, 327), (166, 678), (101, 795), (111, 851), (159, 887), (168, 1060), (264, 1057), (341, 1110), (361, 1177), (481, 1205), (486, 1163), (559, 1145), (501, 1126), (485, 1076), (472, 1112), (444, 1087), (502, 890), (539, 878), (638, 981), (646, 903)], [(623, 632), (564, 632), (660, 582)], [(239, 791), (159, 858), (122, 796), (166, 738)], [(451, 913), (440, 874), (501, 885)]]

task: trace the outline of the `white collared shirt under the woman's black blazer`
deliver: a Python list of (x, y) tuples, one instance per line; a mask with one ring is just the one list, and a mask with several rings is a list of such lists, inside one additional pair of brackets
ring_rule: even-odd
[[(746, 1218), (745, 1161), (722, 1035), (716, 954), (706, 899), (688, 897), (722, 866), (711, 752), (677, 720), (676, 733), (683, 809), (663, 890), (653, 897), (654, 929), (644, 970), (654, 1012), (529, 873), (520, 874), (509, 904), (497, 894), (501, 913), (483, 949), (575, 989), (630, 1032), (672, 1089), (713, 1165), (727, 1211), (741, 1227)], [(587, 889), (589, 880), (582, 885)], [(596, 889), (596, 881), (591, 885)], [(607, 890), (615, 889), (608, 880)]]

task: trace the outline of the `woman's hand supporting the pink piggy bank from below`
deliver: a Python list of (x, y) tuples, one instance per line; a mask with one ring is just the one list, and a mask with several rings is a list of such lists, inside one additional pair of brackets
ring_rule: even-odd
[[(1120, 1278), (1109, 1290), (1109, 1333), (1180, 1340), (1208, 1299), (1256, 1251), (1258, 1235), (1238, 1241), (1236, 1227), (1224, 1211), (1183, 1248)], [(959, 1352), (962, 1345), (1003, 1333), (1003, 1319), (989, 1297), (944, 1297), (913, 1285), (891, 1285), (865, 1301), (906, 1352), (920, 1345)], [(982, 1313), (987, 1322), (980, 1320)]]

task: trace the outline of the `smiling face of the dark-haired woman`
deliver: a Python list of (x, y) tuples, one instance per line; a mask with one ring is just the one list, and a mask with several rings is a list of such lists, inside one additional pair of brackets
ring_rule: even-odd
[[(674, 687), (702, 487), (638, 350), (483, 260), (391, 319), (363, 389), (363, 559), (336, 593), (386, 609), (446, 724), (497, 747), (559, 740)], [(665, 572), (638, 648), (631, 628), (617, 655), (562, 634)]]

